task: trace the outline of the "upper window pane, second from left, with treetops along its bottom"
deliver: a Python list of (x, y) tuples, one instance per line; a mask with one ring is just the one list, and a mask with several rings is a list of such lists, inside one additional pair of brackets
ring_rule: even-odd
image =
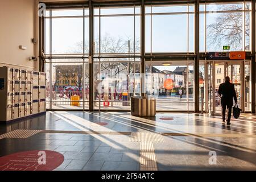
[(140, 52), (138, 7), (94, 9), (94, 13), (94, 53), (130, 55)]

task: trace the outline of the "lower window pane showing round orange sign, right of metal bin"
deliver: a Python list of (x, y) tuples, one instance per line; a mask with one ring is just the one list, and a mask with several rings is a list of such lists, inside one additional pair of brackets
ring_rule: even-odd
[(194, 62), (146, 61), (146, 95), (157, 111), (194, 111)]

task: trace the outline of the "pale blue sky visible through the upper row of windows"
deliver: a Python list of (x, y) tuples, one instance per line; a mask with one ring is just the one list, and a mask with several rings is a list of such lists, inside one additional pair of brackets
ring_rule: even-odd
[[(224, 6), (224, 5), (222, 5)], [(225, 5), (226, 6), (226, 5)], [(201, 6), (201, 10), (203, 6)], [(179, 13), (187, 12), (187, 6), (167, 6), (167, 7), (154, 7), (152, 13)], [(209, 5), (207, 10), (217, 10), (218, 6)], [(193, 12), (193, 6), (189, 6), (189, 11)], [(82, 15), (82, 10), (65, 10), (65, 11), (52, 11), (53, 16), (79, 16)], [(132, 8), (116, 8), (116, 9), (101, 9), (101, 14), (133, 14)], [(137, 7), (135, 13), (140, 13)], [(146, 13), (150, 13), (150, 7), (146, 7)], [(85, 10), (85, 15), (88, 15), (88, 10)], [(94, 14), (98, 14), (98, 9), (94, 9)], [(220, 14), (207, 14), (207, 24), (214, 23), (217, 15)], [(225, 15), (224, 15), (225, 16)], [(150, 52), (150, 15), (146, 15), (146, 52)], [(188, 18), (189, 17), (189, 18)], [(189, 26), (188, 26), (188, 22)], [(52, 42), (53, 53), (68, 53), (71, 49), (82, 53), (82, 48), (77, 46), (77, 43), (82, 42), (82, 18), (53, 18), (52, 19)], [(98, 17), (94, 19), (94, 36), (98, 38)], [(49, 27), (49, 21), (46, 21), (46, 28)], [(104, 36), (112, 36), (113, 38), (123, 38), (124, 40), (134, 39), (134, 24), (135, 24), (135, 39), (140, 39), (140, 16), (102, 16), (101, 17), (101, 38)], [(194, 51), (194, 14), (179, 14), (179, 15), (153, 15), (152, 16), (152, 52), (187, 52)], [(189, 31), (188, 31), (189, 28)], [(205, 51), (204, 47), (204, 14), (200, 15), (200, 51)], [(189, 32), (189, 34), (188, 34)], [(49, 37), (49, 32), (47, 32)], [(189, 43), (187, 43), (189, 40)], [(85, 41), (89, 42), (89, 19), (85, 18)], [(48, 43), (49, 41), (46, 40)], [(215, 51), (221, 51), (222, 46)], [(209, 47), (209, 45), (207, 45)], [(47, 46), (49, 47), (49, 45)], [(212, 51), (213, 47), (209, 47), (208, 51)], [(48, 50), (47, 50), (48, 52)]]

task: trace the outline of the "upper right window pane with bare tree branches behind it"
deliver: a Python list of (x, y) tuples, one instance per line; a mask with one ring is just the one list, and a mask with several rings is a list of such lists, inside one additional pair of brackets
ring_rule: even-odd
[(201, 52), (223, 51), (223, 46), (230, 46), (229, 51), (251, 50), (251, 3), (206, 4), (200, 7)]

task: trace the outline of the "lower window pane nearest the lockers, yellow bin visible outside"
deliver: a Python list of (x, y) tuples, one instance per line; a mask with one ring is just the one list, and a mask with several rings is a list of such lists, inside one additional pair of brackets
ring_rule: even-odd
[(82, 63), (52, 64), (52, 109), (82, 109), (82, 69)]

